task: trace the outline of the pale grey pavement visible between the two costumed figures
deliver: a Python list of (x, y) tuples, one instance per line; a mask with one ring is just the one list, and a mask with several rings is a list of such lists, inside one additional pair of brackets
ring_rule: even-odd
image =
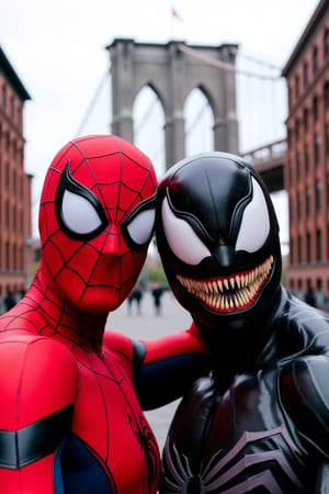
[[(152, 297), (149, 292), (146, 292), (143, 296), (141, 315), (136, 314), (135, 305), (133, 305), (132, 314), (129, 315), (127, 302), (124, 302), (120, 308), (110, 314), (106, 329), (122, 332), (135, 339), (154, 339), (190, 326), (190, 314), (177, 303), (171, 292), (163, 293), (161, 303), (162, 314), (157, 316), (155, 315)], [(145, 414), (157, 437), (160, 452), (162, 452), (168, 427), (178, 404), (179, 400)]]

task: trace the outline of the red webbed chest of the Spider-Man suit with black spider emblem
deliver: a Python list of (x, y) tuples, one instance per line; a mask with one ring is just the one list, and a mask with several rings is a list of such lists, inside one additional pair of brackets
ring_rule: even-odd
[(78, 363), (72, 431), (98, 458), (117, 492), (156, 492), (159, 452), (134, 392), (131, 366), (111, 356), (89, 356), (88, 362)]

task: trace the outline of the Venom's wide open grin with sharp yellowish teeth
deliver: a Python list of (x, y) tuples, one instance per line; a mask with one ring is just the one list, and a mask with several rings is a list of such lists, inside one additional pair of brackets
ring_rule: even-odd
[(189, 293), (209, 308), (217, 312), (240, 311), (250, 306), (259, 294), (270, 276), (273, 260), (271, 255), (254, 269), (227, 278), (196, 280), (178, 274), (177, 279)]

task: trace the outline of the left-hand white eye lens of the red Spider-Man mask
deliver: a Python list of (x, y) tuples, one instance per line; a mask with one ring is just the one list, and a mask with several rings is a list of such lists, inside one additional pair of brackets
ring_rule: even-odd
[(61, 216), (67, 228), (79, 235), (89, 234), (102, 224), (92, 204), (69, 190), (66, 190), (63, 195)]

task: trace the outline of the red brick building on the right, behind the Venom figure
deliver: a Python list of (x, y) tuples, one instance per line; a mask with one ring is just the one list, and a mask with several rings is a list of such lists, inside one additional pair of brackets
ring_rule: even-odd
[(288, 116), (285, 189), (290, 204), (287, 287), (329, 292), (329, 2), (320, 0), (282, 75)]

